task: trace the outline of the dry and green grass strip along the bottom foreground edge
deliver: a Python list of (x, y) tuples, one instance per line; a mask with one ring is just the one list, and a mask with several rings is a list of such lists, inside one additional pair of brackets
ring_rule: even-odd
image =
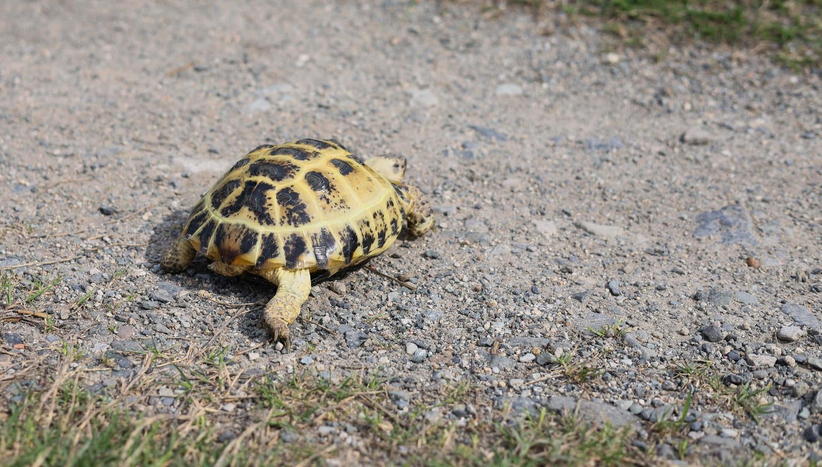
[[(219, 347), (201, 349), (201, 358), (166, 349), (155, 371), (95, 389), (84, 379), (95, 358), (69, 343), (53, 350), (57, 362), (44, 357), (31, 363), (40, 368), (0, 379), (0, 394), (12, 398), (0, 409), (2, 465), (652, 464), (630, 445), (628, 429), (544, 409), (531, 417), (490, 409), (481, 386), (432, 389), (399, 410), (389, 396), (395, 388), (376, 374), (338, 381), (279, 368), (248, 376), (220, 364)], [(171, 388), (172, 405), (160, 401), (159, 387)], [(482, 413), (431, 417), (456, 404)]]

